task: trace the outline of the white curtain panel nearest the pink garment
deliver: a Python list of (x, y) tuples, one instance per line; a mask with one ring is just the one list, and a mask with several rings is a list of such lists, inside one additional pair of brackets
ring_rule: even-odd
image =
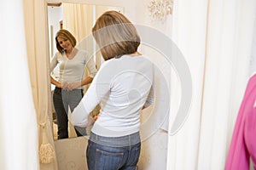
[[(208, 6), (206, 78), (198, 164), (201, 169), (222, 169), (250, 76), (256, 2), (209, 1)], [(209, 158), (205, 160), (205, 157)]]

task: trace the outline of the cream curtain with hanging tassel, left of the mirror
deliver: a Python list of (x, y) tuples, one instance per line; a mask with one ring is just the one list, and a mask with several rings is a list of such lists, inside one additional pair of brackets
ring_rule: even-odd
[(49, 41), (47, 19), (45, 18), (47, 7), (43, 0), (24, 0), (23, 3), (27, 59), (38, 122), (37, 150), (40, 169), (57, 169), (52, 133), (51, 96), (48, 95), (50, 94), (50, 82), (47, 66), (49, 65)]

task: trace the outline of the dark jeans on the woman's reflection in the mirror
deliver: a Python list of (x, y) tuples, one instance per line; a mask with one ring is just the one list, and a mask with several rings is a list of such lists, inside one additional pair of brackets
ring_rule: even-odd
[[(67, 91), (55, 87), (53, 94), (53, 104), (57, 117), (58, 139), (68, 138), (68, 106), (72, 112), (74, 108), (79, 105), (79, 102), (83, 96), (84, 94), (82, 89)], [(75, 127), (75, 130), (78, 136), (86, 135), (86, 129), (83, 127)]]

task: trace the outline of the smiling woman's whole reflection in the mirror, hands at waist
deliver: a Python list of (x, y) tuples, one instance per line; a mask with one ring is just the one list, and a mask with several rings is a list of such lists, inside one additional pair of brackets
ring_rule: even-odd
[[(60, 30), (55, 37), (57, 52), (50, 63), (50, 71), (59, 66), (59, 77), (51, 77), (50, 82), (55, 85), (53, 103), (58, 124), (58, 139), (68, 138), (67, 112), (68, 106), (71, 111), (79, 104), (83, 97), (83, 86), (89, 84), (96, 75), (93, 59), (84, 50), (75, 48), (76, 39), (67, 30)], [(90, 71), (90, 77), (84, 76), (84, 67)], [(78, 136), (85, 130), (76, 128)], [(82, 132), (83, 130), (83, 132)]]

